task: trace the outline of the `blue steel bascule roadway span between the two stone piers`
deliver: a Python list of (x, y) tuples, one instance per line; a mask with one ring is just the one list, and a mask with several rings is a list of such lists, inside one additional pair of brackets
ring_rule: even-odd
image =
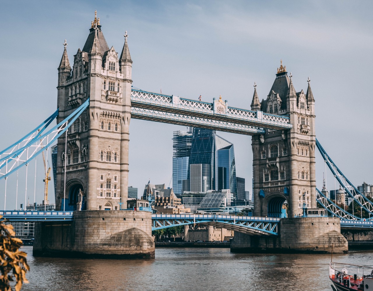
[(278, 235), (279, 218), (206, 214), (153, 214), (152, 230), (203, 223), (254, 235)]

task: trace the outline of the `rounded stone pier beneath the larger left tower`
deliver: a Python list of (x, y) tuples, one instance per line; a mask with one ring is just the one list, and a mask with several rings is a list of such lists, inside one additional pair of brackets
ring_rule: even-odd
[(72, 222), (36, 222), (34, 256), (154, 258), (151, 213), (75, 211)]

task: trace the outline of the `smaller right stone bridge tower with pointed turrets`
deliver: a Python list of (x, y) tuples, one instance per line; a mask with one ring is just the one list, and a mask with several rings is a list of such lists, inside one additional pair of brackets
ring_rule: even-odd
[(277, 69), (276, 79), (266, 100), (259, 101), (256, 85), (252, 110), (287, 115), (293, 128), (266, 129), (253, 136), (254, 215), (280, 217), (288, 201), (288, 217), (303, 213), (303, 207), (316, 208), (315, 100), (308, 78), (307, 92), (295, 91), (286, 67)]

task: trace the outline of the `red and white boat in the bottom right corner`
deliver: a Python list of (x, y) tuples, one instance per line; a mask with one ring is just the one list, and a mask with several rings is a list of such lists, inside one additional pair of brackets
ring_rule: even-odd
[(373, 291), (373, 267), (331, 262), (329, 279), (333, 291)]

